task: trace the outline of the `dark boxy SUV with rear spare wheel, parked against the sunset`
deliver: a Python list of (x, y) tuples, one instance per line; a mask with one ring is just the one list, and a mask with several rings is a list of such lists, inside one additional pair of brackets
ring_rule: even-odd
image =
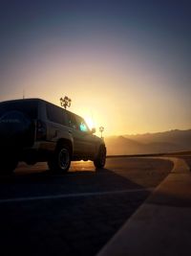
[(0, 103), (0, 170), (11, 173), (18, 161), (47, 161), (52, 171), (67, 172), (72, 160), (93, 160), (103, 168), (104, 141), (83, 118), (40, 99)]

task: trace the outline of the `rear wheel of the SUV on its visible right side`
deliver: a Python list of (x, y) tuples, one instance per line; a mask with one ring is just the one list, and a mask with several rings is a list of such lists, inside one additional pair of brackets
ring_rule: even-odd
[(67, 173), (71, 166), (71, 150), (68, 145), (58, 146), (48, 161), (49, 169), (53, 173)]

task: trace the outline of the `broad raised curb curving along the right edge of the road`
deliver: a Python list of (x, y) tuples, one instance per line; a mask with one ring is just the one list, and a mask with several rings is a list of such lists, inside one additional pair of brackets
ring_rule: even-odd
[(96, 256), (191, 255), (191, 173), (182, 159), (165, 159), (171, 173)]

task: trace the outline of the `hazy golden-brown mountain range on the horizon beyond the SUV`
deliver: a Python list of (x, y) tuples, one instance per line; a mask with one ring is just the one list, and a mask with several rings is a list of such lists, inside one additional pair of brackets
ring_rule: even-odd
[(108, 155), (191, 150), (191, 129), (105, 138)]

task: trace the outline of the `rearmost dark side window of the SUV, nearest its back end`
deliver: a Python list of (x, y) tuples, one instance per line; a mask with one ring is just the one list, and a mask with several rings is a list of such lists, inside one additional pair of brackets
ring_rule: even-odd
[(56, 105), (47, 105), (47, 118), (53, 123), (67, 125), (65, 110)]

